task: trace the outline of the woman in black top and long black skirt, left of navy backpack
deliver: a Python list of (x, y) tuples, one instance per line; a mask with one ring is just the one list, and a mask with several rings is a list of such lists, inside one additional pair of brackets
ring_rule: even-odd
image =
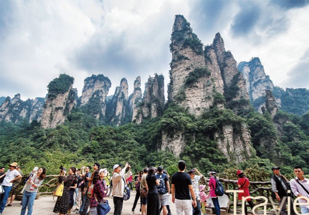
[(157, 169), (155, 167), (150, 167), (148, 175), (146, 176), (146, 182), (148, 185), (148, 195), (147, 195), (147, 215), (159, 215), (159, 196), (157, 193), (157, 186), (159, 181), (156, 178)]

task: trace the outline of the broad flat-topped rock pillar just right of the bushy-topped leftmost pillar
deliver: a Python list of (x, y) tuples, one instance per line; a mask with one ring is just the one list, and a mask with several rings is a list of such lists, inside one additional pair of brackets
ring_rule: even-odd
[(103, 121), (106, 111), (106, 96), (112, 83), (102, 74), (92, 75), (84, 80), (84, 88), (81, 96), (81, 106), (85, 106), (86, 112)]

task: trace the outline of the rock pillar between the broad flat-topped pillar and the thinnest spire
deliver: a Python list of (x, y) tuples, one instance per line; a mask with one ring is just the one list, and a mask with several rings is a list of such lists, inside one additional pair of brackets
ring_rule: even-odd
[(111, 100), (110, 108), (110, 121), (111, 125), (119, 126), (124, 120), (128, 111), (128, 81), (123, 78), (120, 86), (116, 88), (113, 99)]

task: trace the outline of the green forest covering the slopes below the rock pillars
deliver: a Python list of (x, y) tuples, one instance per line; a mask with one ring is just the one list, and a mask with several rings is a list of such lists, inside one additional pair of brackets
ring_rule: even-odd
[[(56, 174), (60, 165), (66, 167), (90, 165), (99, 162), (111, 170), (116, 163), (129, 161), (134, 171), (145, 166), (162, 165), (169, 172), (177, 171), (177, 161), (186, 161), (187, 168), (197, 168), (202, 173), (209, 169), (229, 172), (229, 169), (259, 168), (270, 172), (272, 166), (281, 166), (284, 173), (292, 173), (295, 165), (303, 166), (308, 173), (309, 163), (309, 113), (303, 116), (279, 111), (274, 120), (289, 119), (283, 134), (273, 149), (280, 158), (272, 157), (267, 146), (260, 146), (259, 139), (267, 136), (277, 138), (278, 132), (269, 114), (260, 114), (251, 108), (245, 115), (237, 116), (231, 110), (217, 108), (204, 112), (200, 117), (189, 114), (175, 104), (166, 105), (164, 114), (158, 118), (148, 118), (141, 124), (127, 123), (119, 127), (99, 125), (91, 115), (75, 108), (63, 125), (56, 128), (42, 128), (40, 123), (26, 120), (20, 123), (0, 122), (0, 164), (16, 161), (25, 172), (33, 166), (46, 167), (48, 174)], [(222, 126), (225, 121), (248, 124), (252, 136), (252, 152), (249, 161), (235, 165), (228, 162), (217, 148), (213, 138), (205, 134)], [(179, 157), (170, 151), (157, 151), (161, 131), (172, 135), (177, 130), (185, 130), (187, 145)], [(192, 133), (196, 139), (192, 139)], [(267, 180), (267, 179), (266, 179)]]

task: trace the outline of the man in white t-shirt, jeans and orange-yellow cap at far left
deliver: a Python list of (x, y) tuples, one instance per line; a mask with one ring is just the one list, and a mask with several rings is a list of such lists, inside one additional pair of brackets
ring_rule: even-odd
[(2, 193), (1, 196), (0, 196), (0, 201), (1, 201), (0, 215), (2, 215), (2, 212), (5, 208), (7, 198), (8, 198), (8, 194), (9, 194), (11, 188), (12, 188), (13, 181), (19, 180), (21, 178), (20, 173), (16, 170), (16, 166), (17, 166), (16, 162), (13, 162), (13, 163), (8, 165), (8, 170), (6, 172), (4, 180), (2, 182), (2, 187), (3, 187), (4, 193)]

